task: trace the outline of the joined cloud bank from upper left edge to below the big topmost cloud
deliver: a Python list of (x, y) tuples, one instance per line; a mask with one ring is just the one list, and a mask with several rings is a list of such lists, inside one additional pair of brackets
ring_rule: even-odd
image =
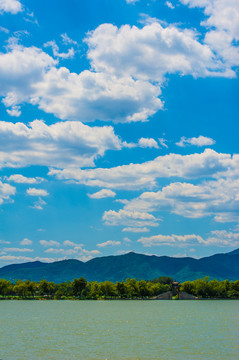
[(76, 74), (57, 64), (41, 49), (15, 42), (0, 53), (0, 95), (12, 114), (28, 102), (62, 120), (131, 122), (146, 121), (163, 106), (160, 88), (148, 81), (87, 70)]

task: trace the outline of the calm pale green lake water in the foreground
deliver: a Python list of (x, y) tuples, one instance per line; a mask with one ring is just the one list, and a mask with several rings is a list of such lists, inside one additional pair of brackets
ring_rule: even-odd
[(239, 301), (0, 301), (0, 359), (239, 359)]

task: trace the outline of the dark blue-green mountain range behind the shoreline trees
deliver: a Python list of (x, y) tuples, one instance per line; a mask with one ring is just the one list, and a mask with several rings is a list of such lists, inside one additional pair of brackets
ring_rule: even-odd
[(209, 276), (218, 280), (239, 280), (239, 249), (227, 254), (216, 254), (201, 259), (149, 256), (130, 252), (125, 255), (95, 258), (87, 262), (63, 260), (54, 263), (40, 261), (14, 264), (0, 268), (0, 279), (60, 283), (83, 276), (88, 281), (113, 282), (126, 278), (151, 280), (170, 276), (183, 282)]

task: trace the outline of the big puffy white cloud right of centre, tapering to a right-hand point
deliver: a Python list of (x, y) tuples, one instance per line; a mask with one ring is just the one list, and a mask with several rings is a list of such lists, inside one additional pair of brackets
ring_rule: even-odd
[[(126, 74), (159, 84), (166, 74), (194, 77), (232, 76), (215, 59), (208, 45), (197, 40), (197, 33), (176, 26), (163, 27), (153, 22), (138, 28), (117, 28), (102, 24), (86, 39), (88, 57), (95, 71), (117, 76)], [(233, 73), (234, 74), (234, 73)]]

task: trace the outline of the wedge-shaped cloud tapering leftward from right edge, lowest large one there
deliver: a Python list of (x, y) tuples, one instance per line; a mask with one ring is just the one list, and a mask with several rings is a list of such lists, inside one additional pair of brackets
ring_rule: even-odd
[(125, 211), (170, 211), (187, 218), (213, 216), (217, 222), (238, 221), (239, 180), (217, 179), (171, 183), (158, 192), (145, 192), (125, 205)]

